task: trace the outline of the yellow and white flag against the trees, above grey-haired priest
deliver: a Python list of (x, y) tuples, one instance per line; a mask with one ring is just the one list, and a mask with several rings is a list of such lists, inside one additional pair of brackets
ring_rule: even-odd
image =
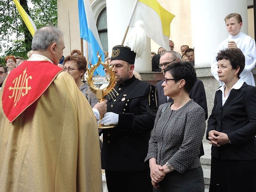
[(26, 13), (26, 11), (24, 10), (24, 8), (20, 5), (18, 0), (13, 0), (13, 2), (15, 3), (21, 18), (23, 19), (24, 23), (27, 25), (28, 30), (30, 31), (32, 37), (35, 34), (35, 31), (37, 30), (37, 28), (35, 27), (34, 22), (32, 21), (32, 19), (30, 18), (30, 16), (28, 16), (28, 14)]

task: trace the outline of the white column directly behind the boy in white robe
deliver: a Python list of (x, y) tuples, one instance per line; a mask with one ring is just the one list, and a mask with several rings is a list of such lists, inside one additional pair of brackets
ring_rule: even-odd
[(191, 0), (195, 66), (211, 66), (214, 51), (229, 35), (224, 21), (229, 13), (242, 16), (241, 31), (248, 34), (247, 0)]

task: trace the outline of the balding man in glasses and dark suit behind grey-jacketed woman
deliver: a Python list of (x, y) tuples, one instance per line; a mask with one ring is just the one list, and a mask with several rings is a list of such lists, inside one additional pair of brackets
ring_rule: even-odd
[[(165, 68), (167, 68), (168, 65), (171, 65), (175, 61), (181, 61), (181, 56), (176, 51), (166, 51), (160, 55), (160, 64), (159, 67), (163, 71)], [(163, 84), (164, 80), (161, 80), (156, 84), (157, 93), (158, 93), (158, 102), (159, 106), (161, 104), (167, 103), (167, 102), (173, 102), (173, 99), (171, 99), (168, 96), (164, 96), (164, 89), (161, 86)], [(194, 102), (199, 104), (205, 112), (205, 120), (208, 119), (208, 109), (207, 109), (207, 102), (206, 102), (206, 94), (204, 89), (203, 82), (197, 78), (197, 81), (195, 82), (195, 85), (189, 92), (190, 99), (193, 99)], [(200, 147), (200, 157), (204, 155), (204, 148), (201, 144)]]

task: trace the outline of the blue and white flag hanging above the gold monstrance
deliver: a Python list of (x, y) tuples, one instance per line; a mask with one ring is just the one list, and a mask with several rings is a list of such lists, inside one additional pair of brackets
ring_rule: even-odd
[[(78, 14), (80, 38), (83, 38), (83, 40), (88, 42), (88, 60), (90, 60), (93, 65), (96, 64), (98, 62), (97, 52), (99, 51), (99, 55), (101, 54), (101, 60), (104, 62), (105, 55), (100, 43), (99, 33), (89, 0), (78, 0)], [(105, 75), (102, 65), (96, 69), (96, 72), (98, 75)]]

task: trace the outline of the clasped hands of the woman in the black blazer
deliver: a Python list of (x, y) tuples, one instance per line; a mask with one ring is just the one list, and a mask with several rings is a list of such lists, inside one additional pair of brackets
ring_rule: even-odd
[(212, 144), (216, 147), (220, 147), (221, 145), (225, 145), (229, 143), (229, 138), (226, 133), (222, 133), (219, 131), (211, 130), (208, 133), (209, 144)]

